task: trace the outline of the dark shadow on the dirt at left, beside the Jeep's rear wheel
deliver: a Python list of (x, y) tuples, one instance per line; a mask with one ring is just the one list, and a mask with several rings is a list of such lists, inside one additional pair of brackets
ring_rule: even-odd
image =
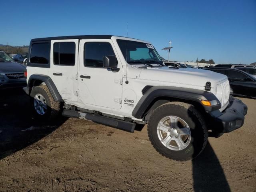
[(65, 120), (36, 121), (23, 90), (0, 90), (0, 160), (44, 138)]

